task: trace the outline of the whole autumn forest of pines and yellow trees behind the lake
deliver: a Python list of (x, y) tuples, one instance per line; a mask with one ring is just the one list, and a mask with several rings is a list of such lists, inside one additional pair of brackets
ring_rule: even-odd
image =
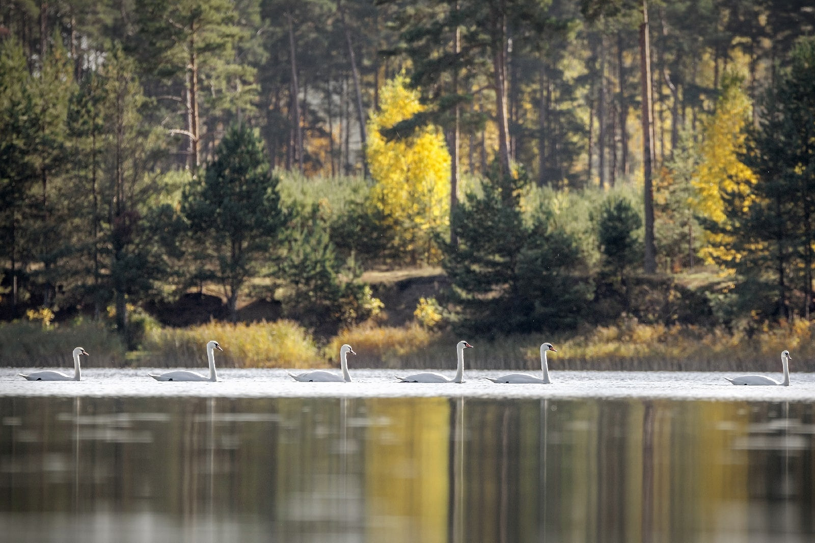
[(803, 0), (6, 0), (0, 356), (815, 355), (813, 89)]

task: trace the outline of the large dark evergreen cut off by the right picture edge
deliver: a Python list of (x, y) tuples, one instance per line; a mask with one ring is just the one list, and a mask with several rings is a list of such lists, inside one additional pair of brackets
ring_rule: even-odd
[[(743, 282), (742, 300), (765, 316), (809, 317), (812, 310), (815, 210), (815, 40), (803, 38), (787, 69), (760, 104), (764, 112), (742, 155), (756, 175), (751, 193), (725, 195), (730, 236), (740, 258), (728, 263)], [(804, 293), (795, 300), (795, 290)], [(794, 305), (793, 305), (794, 304)]]

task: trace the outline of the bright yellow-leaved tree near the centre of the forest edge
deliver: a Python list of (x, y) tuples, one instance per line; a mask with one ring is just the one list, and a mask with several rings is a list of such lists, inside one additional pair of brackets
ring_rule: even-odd
[(434, 126), (394, 141), (380, 134), (424, 109), (419, 93), (407, 88), (406, 77), (385, 83), (380, 106), (368, 121), (368, 168), (376, 182), (372, 200), (392, 223), (399, 251), (413, 262), (420, 257), (437, 262), (440, 253), (433, 232), (450, 223), (450, 153)]

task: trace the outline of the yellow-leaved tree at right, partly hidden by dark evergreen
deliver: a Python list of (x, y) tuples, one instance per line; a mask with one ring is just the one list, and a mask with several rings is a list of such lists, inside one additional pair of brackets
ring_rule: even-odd
[[(716, 101), (716, 113), (703, 125), (700, 160), (692, 181), (696, 189), (694, 210), (716, 223), (726, 220), (722, 195), (738, 192), (745, 196), (747, 207), (751, 202), (751, 188), (756, 183), (756, 175), (739, 160), (739, 154), (745, 149), (751, 110), (750, 99), (742, 91), (741, 83), (742, 79), (736, 75), (725, 77), (722, 93)], [(727, 245), (726, 234), (707, 232), (707, 247), (701, 254), (708, 263), (738, 260), (739, 255), (726, 249)]]

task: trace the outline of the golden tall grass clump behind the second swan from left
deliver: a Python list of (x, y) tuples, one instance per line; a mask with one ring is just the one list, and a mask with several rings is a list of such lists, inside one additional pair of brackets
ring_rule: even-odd
[(211, 322), (148, 333), (138, 364), (150, 367), (206, 365), (206, 343), (220, 343), (217, 364), (226, 368), (313, 368), (325, 366), (314, 338), (291, 320), (272, 323)]

